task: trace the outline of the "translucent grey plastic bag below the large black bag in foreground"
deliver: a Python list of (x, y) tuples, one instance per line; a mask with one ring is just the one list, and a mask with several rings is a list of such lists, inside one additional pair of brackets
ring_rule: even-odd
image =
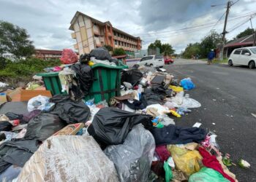
[(108, 146), (104, 153), (115, 164), (120, 181), (148, 181), (154, 149), (153, 135), (138, 124), (123, 144)]

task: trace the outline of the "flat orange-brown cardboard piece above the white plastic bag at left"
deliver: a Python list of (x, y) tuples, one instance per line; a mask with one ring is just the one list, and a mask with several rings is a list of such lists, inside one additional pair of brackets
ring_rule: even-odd
[(49, 90), (21, 90), (20, 101), (27, 101), (31, 98), (36, 97), (37, 95), (46, 96), (48, 98), (52, 97)]

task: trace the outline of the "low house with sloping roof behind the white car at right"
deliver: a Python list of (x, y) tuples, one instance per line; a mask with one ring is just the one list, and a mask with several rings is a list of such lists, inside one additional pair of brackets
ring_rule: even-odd
[(233, 40), (225, 44), (223, 55), (228, 58), (231, 52), (240, 47), (252, 47), (254, 40), (254, 34), (249, 36), (243, 36), (239, 39)]

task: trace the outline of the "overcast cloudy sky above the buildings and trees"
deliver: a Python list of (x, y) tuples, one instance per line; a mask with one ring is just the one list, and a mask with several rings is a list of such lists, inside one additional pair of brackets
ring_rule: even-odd
[[(36, 48), (62, 50), (75, 44), (68, 28), (75, 12), (80, 11), (140, 36), (143, 49), (160, 39), (172, 44), (179, 53), (187, 44), (200, 41), (211, 29), (222, 32), (226, 3), (226, 0), (0, 0), (0, 20), (26, 28)], [(218, 6), (211, 7), (212, 4)], [(251, 27), (250, 22), (244, 22), (249, 20), (246, 13), (256, 12), (255, 7), (256, 0), (240, 0), (231, 7), (227, 39)], [(252, 25), (256, 28), (256, 17)]]

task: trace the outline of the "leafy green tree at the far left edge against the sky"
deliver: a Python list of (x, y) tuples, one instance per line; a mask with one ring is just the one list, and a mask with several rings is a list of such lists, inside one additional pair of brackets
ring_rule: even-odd
[(27, 58), (34, 53), (32, 43), (24, 28), (0, 21), (0, 57), (4, 54), (11, 54), (15, 58)]

